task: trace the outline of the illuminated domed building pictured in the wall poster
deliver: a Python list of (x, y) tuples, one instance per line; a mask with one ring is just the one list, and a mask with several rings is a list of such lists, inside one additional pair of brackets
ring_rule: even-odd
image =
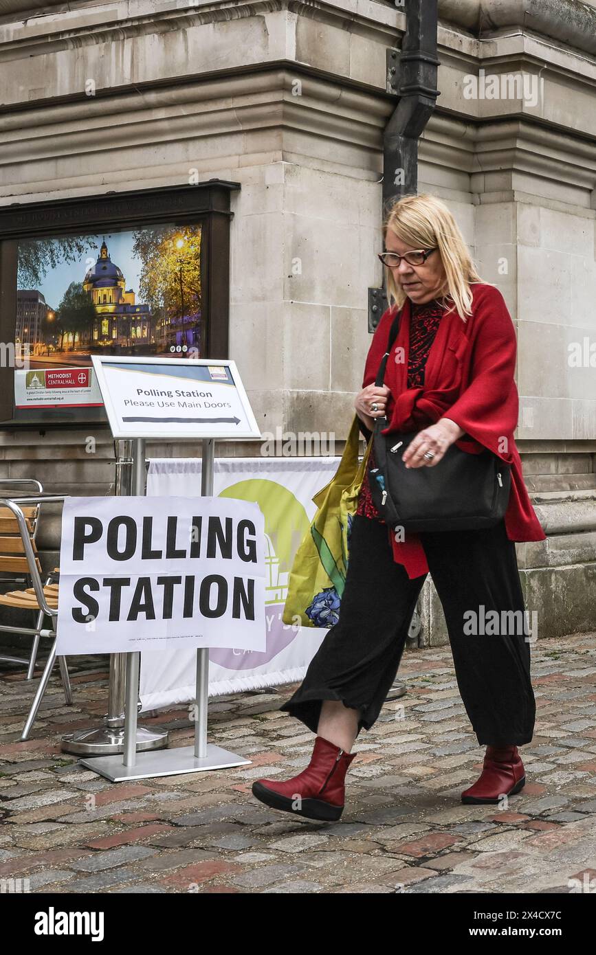
[(149, 306), (138, 305), (133, 289), (126, 288), (122, 271), (112, 262), (105, 239), (96, 264), (85, 275), (83, 288), (97, 314), (93, 342), (87, 344), (120, 348), (157, 344), (156, 321)]

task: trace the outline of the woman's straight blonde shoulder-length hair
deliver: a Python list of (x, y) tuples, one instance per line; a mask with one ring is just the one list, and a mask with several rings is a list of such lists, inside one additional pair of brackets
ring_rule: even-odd
[[(396, 200), (383, 223), (383, 238), (391, 231), (411, 248), (437, 248), (445, 269), (445, 282), (438, 297), (448, 310), (456, 310), (465, 322), (472, 314), (471, 283), (481, 282), (458, 223), (444, 202), (424, 193)], [(401, 308), (406, 293), (387, 269), (387, 298), (393, 308)]]

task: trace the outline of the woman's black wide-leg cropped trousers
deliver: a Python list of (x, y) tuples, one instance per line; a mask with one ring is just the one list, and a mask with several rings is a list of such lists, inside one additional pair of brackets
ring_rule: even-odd
[[(529, 743), (536, 716), (531, 628), (515, 543), (507, 538), (504, 521), (486, 530), (419, 537), (445, 614), (459, 693), (479, 745)], [(341, 700), (361, 711), (358, 732), (370, 730), (394, 683), (425, 578), (410, 579), (394, 562), (386, 524), (355, 515), (338, 622), (303, 683), (280, 709), (317, 732), (322, 701)]]

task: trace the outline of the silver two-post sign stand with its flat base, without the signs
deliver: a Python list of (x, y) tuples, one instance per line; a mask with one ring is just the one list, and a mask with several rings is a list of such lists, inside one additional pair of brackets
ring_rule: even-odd
[[(202, 438), (202, 497), (213, 494), (213, 465), (215, 438)], [(133, 444), (133, 493), (145, 494), (145, 440), (138, 437)], [(81, 759), (87, 769), (94, 770), (112, 782), (124, 779), (147, 779), (151, 776), (198, 773), (202, 770), (225, 769), (232, 766), (247, 766), (249, 759), (230, 753), (220, 746), (207, 743), (207, 696), (209, 676), (209, 651), (197, 650), (197, 690), (194, 708), (195, 745), (180, 749), (160, 750), (156, 753), (138, 753), (137, 701), (140, 653), (126, 653), (126, 704), (124, 716), (124, 754), (97, 756)]]

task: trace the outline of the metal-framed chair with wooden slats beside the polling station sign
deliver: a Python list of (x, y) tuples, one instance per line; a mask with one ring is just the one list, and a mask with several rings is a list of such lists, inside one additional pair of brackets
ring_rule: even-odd
[[(35, 716), (39, 710), (39, 706), (43, 699), (44, 693), (48, 687), (50, 681), (50, 676), (52, 675), (53, 666), (56, 661), (56, 620), (58, 616), (58, 580), (59, 570), (56, 568), (51, 574), (46, 575), (46, 583), (43, 584), (41, 580), (40, 565), (37, 558), (37, 553), (35, 549), (35, 543), (32, 539), (32, 527), (31, 523), (26, 517), (25, 512), (31, 507), (32, 504), (39, 505), (41, 503), (64, 503), (65, 496), (40, 496), (32, 498), (0, 498), (0, 530), (3, 530), (2, 520), (16, 520), (16, 529), (20, 536), (20, 544), (22, 545), (22, 551), (19, 552), (19, 559), (26, 564), (23, 566), (23, 569), (26, 569), (27, 576), (29, 576), (32, 586), (26, 587), (22, 590), (11, 590), (9, 593), (0, 594), (0, 605), (11, 606), (21, 610), (37, 610), (37, 622), (38, 626), (35, 630), (31, 627), (15, 627), (15, 626), (5, 626), (3, 629), (9, 629), (12, 632), (16, 633), (26, 633), (33, 634), (37, 638), (37, 643), (39, 642), (39, 637), (53, 637), (53, 645), (50, 650), (50, 655), (46, 662), (43, 674), (39, 681), (39, 686), (35, 691), (35, 696), (33, 697), (32, 708), (27, 717), (25, 723), (25, 728), (21, 735), (22, 740), (26, 740), (29, 737)], [(6, 510), (11, 512), (13, 519), (4, 518), (3, 513), (6, 514)], [(14, 526), (14, 524), (12, 524)], [(13, 537), (12, 541), (18, 541), (18, 538)], [(42, 624), (45, 617), (49, 617), (52, 629), (43, 628)], [(36, 647), (35, 647), (36, 652)], [(72, 704), (73, 702), (73, 693), (71, 690), (71, 681), (69, 679), (68, 668), (66, 666), (66, 660), (64, 657), (59, 656), (58, 665), (60, 667), (60, 674), (62, 677), (62, 683), (64, 685), (64, 695), (66, 698), (67, 704)], [(25, 661), (27, 662), (27, 661)]]

